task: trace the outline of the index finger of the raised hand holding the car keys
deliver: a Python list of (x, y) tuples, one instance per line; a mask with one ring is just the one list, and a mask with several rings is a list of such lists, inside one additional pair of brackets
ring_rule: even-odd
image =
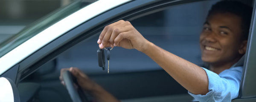
[(117, 22), (115, 22), (115, 23), (112, 23), (112, 24), (110, 24), (110, 25), (108, 25), (108, 26), (105, 26), (104, 29), (103, 29), (103, 31), (102, 31), (101, 34), (99, 35), (99, 40), (97, 41), (97, 43), (98, 43), (98, 44), (102, 43), (102, 39), (104, 38), (105, 34), (107, 33), (107, 31), (109, 30), (109, 28), (110, 28), (111, 26), (115, 26), (115, 25), (118, 25), (118, 24), (124, 23), (124, 22), (125, 22), (124, 20), (119, 20), (119, 21), (117, 21)]

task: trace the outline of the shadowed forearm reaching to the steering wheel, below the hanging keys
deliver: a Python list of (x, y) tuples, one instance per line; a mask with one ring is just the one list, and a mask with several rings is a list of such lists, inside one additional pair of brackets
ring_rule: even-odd
[(90, 94), (96, 99), (96, 102), (120, 102), (100, 85), (95, 85)]

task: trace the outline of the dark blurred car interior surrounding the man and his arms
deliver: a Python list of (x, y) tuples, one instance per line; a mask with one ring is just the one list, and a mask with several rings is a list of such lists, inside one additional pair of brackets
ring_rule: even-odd
[[(252, 0), (249, 0), (252, 3)], [(199, 35), (212, 4), (203, 0), (173, 5), (127, 20), (149, 41), (199, 66)], [(249, 3), (249, 2), (248, 2)], [(249, 3), (249, 4), (250, 4)], [(56, 55), (18, 83), (20, 102), (71, 102), (59, 80), (61, 68), (77, 67), (122, 102), (188, 102), (187, 90), (145, 54), (134, 49), (111, 50), (110, 73), (98, 65), (100, 32)], [(91, 100), (93, 97), (87, 95)]]

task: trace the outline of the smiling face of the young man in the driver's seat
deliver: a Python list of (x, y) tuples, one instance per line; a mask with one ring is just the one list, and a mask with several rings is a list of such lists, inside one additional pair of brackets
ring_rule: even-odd
[(245, 53), (240, 37), (239, 16), (231, 13), (211, 14), (200, 35), (201, 59), (215, 65), (234, 64)]

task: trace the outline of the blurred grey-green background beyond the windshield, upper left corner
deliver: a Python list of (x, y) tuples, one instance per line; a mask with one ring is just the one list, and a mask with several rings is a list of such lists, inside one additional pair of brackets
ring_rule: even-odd
[(0, 0), (0, 42), (74, 0)]

